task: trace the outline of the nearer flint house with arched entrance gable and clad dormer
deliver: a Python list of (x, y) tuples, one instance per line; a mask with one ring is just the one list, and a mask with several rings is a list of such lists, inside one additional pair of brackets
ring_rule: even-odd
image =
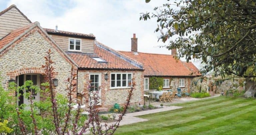
[[(32, 80), (40, 86), (44, 81), (41, 65), (49, 49), (53, 52), (58, 93), (67, 94), (64, 80), (74, 66), (77, 91), (72, 93), (73, 98), (77, 98), (77, 93), (86, 92), (91, 80), (91, 85), (96, 86), (91, 91), (101, 86), (99, 107), (105, 109), (114, 103), (124, 104), (129, 82), (135, 78), (131, 103), (143, 103), (144, 70), (140, 62), (99, 43), (92, 34), (60, 31), (57, 27), (44, 29), (39, 22), (32, 23), (15, 5), (0, 12), (0, 72), (5, 89), (11, 81), (21, 86), (26, 80)], [(47, 95), (42, 92), (33, 97), (35, 101), (42, 101)], [(22, 96), (17, 104), (29, 102)]]

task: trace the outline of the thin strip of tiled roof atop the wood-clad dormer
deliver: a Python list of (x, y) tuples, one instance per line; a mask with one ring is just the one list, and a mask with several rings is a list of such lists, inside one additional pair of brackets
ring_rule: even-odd
[(47, 28), (44, 28), (44, 30), (47, 33), (53, 33), (53, 34), (64, 34), (64, 35), (80, 36), (80, 37), (86, 37), (86, 38), (95, 38), (93, 34), (75, 33), (75, 32), (68, 32), (68, 31), (62, 31), (62, 30), (56, 31), (54, 29), (47, 29)]

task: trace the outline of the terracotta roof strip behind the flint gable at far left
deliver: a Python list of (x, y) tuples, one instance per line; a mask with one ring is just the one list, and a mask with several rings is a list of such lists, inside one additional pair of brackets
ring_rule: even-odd
[(9, 33), (8, 35), (6, 35), (5, 37), (3, 37), (0, 40), (0, 49), (2, 49), (5, 45), (7, 45), (8, 43), (10, 43), (12, 40), (14, 40), (16, 37), (18, 37), (20, 34), (24, 33), (27, 29), (29, 29), (32, 25), (34, 25), (34, 23), (31, 23), (27, 26), (18, 28), (14, 31), (12, 31), (11, 33)]

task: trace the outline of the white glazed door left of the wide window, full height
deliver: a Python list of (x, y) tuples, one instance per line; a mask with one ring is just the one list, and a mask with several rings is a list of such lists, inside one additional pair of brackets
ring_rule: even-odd
[[(101, 73), (90, 73), (89, 79), (91, 81), (91, 95), (93, 96), (93, 93), (97, 90), (99, 90), (99, 97), (101, 98), (101, 89), (99, 89), (99, 86), (101, 86)], [(98, 100), (98, 105), (101, 105), (101, 99)]]

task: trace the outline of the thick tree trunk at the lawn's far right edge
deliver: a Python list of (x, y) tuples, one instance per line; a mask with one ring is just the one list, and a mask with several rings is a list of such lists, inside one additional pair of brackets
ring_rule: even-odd
[(255, 98), (256, 97), (256, 82), (251, 80), (250, 78), (246, 78), (245, 84), (245, 93), (244, 96), (246, 98)]

